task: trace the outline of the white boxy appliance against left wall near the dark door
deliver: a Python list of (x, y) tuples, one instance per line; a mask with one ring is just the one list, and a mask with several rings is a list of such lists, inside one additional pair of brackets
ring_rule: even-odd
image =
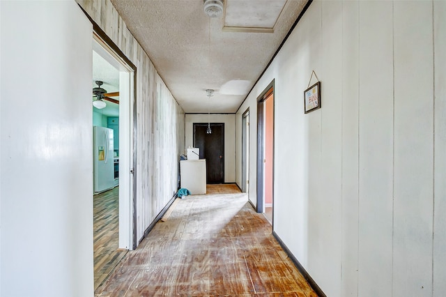
[(206, 159), (180, 161), (181, 188), (206, 194)]

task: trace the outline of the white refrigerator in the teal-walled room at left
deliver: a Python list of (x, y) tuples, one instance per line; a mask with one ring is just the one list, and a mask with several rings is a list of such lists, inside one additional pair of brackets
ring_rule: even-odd
[(93, 190), (114, 188), (113, 130), (93, 126)]

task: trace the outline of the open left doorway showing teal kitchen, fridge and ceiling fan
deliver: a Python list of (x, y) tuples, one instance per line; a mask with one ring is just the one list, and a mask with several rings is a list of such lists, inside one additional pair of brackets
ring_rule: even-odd
[(134, 66), (93, 33), (95, 289), (134, 248)]

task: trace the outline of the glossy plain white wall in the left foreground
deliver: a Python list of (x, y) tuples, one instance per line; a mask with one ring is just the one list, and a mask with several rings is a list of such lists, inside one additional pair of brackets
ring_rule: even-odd
[(93, 296), (92, 26), (75, 1), (0, 10), (0, 295)]

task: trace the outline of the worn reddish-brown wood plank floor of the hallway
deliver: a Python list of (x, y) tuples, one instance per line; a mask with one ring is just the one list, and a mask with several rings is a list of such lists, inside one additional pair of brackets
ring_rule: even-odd
[(316, 294), (247, 196), (234, 185), (210, 185), (208, 195), (178, 199), (96, 296)]

